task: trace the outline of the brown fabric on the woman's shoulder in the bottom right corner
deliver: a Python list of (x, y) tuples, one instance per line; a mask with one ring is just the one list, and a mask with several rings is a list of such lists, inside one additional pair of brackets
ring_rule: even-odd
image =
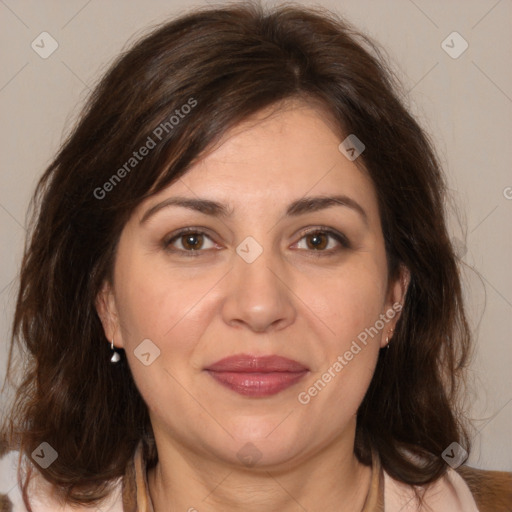
[(480, 512), (512, 510), (512, 473), (469, 466), (460, 466), (457, 473), (471, 490)]

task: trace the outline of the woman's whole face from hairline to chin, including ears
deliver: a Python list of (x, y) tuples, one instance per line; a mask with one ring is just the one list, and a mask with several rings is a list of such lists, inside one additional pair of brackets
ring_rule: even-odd
[(325, 114), (263, 114), (137, 208), (97, 307), (157, 443), (278, 465), (353, 442), (405, 289), (373, 184)]

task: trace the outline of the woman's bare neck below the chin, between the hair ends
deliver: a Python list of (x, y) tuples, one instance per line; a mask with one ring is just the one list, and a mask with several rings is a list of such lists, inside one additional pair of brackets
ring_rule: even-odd
[[(311, 457), (265, 468), (246, 468), (198, 454), (156, 437), (159, 461), (148, 471), (155, 512), (360, 512), (371, 468), (358, 462), (352, 443), (334, 440)], [(347, 449), (350, 448), (350, 449)]]

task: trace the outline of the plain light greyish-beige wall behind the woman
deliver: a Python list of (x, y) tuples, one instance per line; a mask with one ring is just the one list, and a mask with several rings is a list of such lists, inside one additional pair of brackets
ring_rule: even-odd
[[(2, 380), (26, 210), (38, 177), (87, 94), (125, 44), (150, 26), (202, 4), (0, 0)], [(452, 197), (451, 236), (467, 264), (465, 294), (477, 340), (468, 394), (475, 426), (468, 463), (512, 471), (512, 2), (319, 4), (346, 16), (387, 50), (408, 92), (409, 108), (437, 146)], [(44, 31), (59, 45), (47, 59), (31, 47)], [(469, 44), (457, 58), (442, 46), (446, 40), (445, 48), (460, 52), (457, 37), (446, 39), (454, 31)], [(11, 478), (0, 478), (0, 492), (12, 487)]]

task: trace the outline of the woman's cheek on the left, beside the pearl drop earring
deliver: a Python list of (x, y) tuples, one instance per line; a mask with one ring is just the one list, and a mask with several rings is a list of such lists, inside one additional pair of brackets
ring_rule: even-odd
[[(156, 417), (165, 417), (169, 410), (193, 408), (186, 392), (192, 389), (195, 377), (191, 361), (198, 340), (211, 322), (218, 276), (205, 274), (193, 279), (179, 270), (171, 273), (147, 261), (126, 257), (119, 261), (118, 268), (123, 342), (139, 392)], [(159, 350), (148, 366), (136, 355), (145, 339)]]

